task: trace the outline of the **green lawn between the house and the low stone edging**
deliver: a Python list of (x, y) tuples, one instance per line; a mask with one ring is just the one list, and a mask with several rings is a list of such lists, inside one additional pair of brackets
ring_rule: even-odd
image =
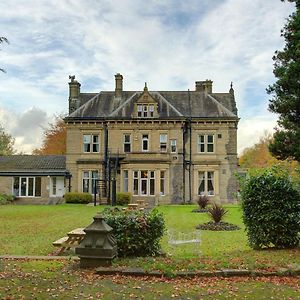
[[(168, 229), (190, 232), (195, 226), (209, 220), (205, 213), (193, 213), (196, 206), (178, 205), (158, 207)], [(0, 206), (1, 234), (0, 254), (47, 255), (55, 248), (52, 242), (77, 227), (85, 227), (93, 221), (96, 212), (103, 207), (85, 205), (58, 206)], [(241, 210), (227, 206), (225, 221), (241, 227), (237, 231), (201, 231), (200, 248), (195, 245), (172, 248), (167, 236), (162, 240), (166, 257), (118, 259), (117, 266), (140, 266), (147, 270), (158, 269), (166, 274), (176, 270), (201, 270), (218, 268), (248, 268), (274, 270), (290, 265), (300, 265), (300, 250), (261, 250), (249, 248)]]

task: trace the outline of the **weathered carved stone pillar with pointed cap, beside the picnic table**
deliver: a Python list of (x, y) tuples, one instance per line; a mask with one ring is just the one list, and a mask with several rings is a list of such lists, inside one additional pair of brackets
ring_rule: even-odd
[(111, 265), (117, 255), (117, 242), (112, 231), (100, 214), (94, 217), (94, 222), (84, 229), (84, 239), (75, 248), (81, 268)]

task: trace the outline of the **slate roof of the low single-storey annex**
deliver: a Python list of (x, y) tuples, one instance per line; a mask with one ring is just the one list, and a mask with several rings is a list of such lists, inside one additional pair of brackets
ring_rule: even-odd
[(12, 171), (65, 171), (64, 155), (9, 155), (0, 156), (0, 172)]

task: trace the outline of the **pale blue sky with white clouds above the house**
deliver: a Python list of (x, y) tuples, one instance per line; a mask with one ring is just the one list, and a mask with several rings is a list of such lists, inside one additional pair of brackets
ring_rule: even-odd
[(280, 0), (0, 1), (0, 124), (30, 154), (49, 122), (68, 110), (69, 75), (82, 92), (194, 90), (233, 82), (240, 117), (238, 152), (272, 132), (272, 56), (294, 11)]

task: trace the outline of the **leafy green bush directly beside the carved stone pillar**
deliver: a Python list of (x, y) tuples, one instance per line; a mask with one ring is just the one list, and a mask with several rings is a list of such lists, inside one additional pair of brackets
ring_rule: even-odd
[(162, 213), (123, 211), (117, 208), (103, 211), (105, 222), (111, 226), (117, 240), (118, 256), (154, 256), (160, 253), (160, 239), (165, 221)]

